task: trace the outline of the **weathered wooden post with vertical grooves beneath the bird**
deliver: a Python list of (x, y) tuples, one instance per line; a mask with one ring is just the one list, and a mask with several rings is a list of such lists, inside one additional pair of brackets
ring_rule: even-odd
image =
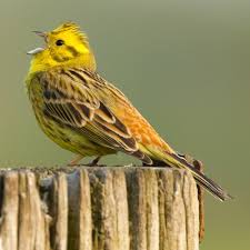
[(169, 168), (0, 171), (0, 250), (198, 250), (190, 173)]

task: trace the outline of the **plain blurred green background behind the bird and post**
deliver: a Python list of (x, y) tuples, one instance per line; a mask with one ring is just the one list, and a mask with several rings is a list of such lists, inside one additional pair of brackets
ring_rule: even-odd
[(207, 196), (201, 250), (250, 249), (249, 13), (247, 0), (1, 0), (0, 164), (71, 159), (38, 128), (23, 80), (26, 51), (42, 44), (30, 31), (76, 21), (90, 37), (98, 71), (237, 198)]

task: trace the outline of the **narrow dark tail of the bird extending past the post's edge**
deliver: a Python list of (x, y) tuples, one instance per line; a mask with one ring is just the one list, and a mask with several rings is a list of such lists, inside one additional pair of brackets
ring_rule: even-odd
[(188, 163), (184, 158), (176, 153), (166, 153), (163, 156), (163, 161), (170, 164), (171, 167), (179, 167), (191, 171), (196, 181), (219, 200), (224, 201), (228, 199), (232, 199), (232, 197), (226, 190), (223, 190), (213, 180), (209, 179), (203, 173), (201, 173), (192, 164)]

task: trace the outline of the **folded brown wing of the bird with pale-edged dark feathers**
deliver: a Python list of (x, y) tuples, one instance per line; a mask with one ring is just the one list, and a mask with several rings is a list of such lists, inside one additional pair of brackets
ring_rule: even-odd
[[(73, 69), (43, 72), (40, 82), (43, 86), (44, 114), (94, 143), (134, 156), (147, 164), (152, 163), (139, 150), (129, 129), (98, 99), (88, 83), (90, 77)], [(98, 88), (101, 83), (98, 82)]]

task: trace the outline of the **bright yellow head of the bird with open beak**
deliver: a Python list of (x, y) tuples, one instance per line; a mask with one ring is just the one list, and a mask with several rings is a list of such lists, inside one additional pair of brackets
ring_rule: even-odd
[(30, 73), (53, 67), (73, 66), (96, 70), (96, 60), (88, 38), (76, 23), (63, 23), (50, 32), (34, 32), (44, 39), (46, 46), (28, 52), (32, 54)]

